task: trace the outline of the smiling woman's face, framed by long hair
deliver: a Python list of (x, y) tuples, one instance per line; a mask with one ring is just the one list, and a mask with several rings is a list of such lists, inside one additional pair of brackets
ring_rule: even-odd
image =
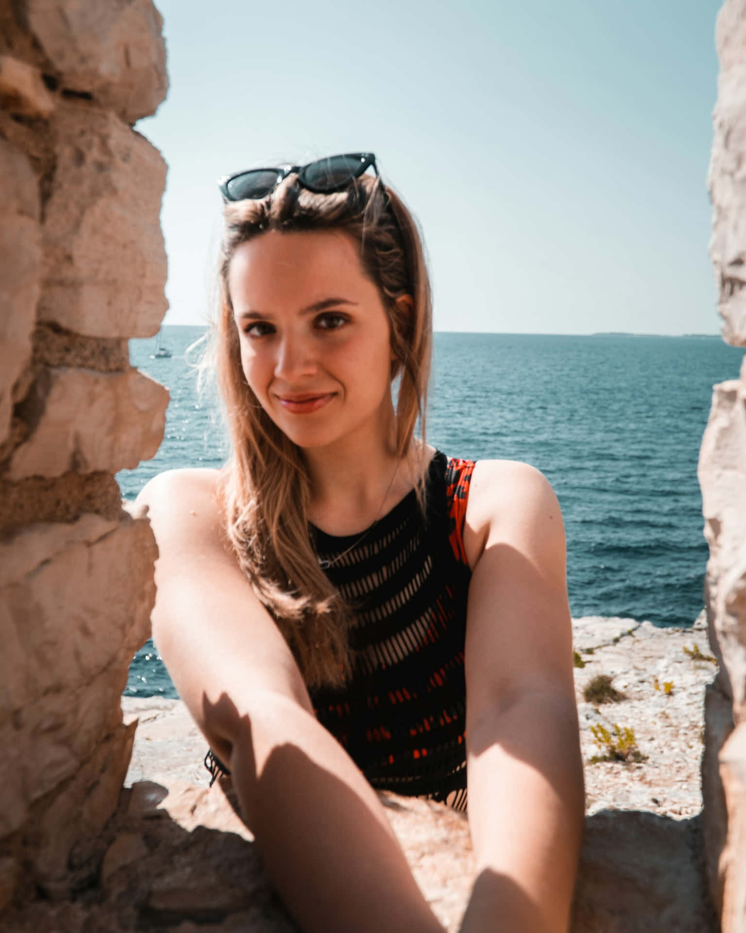
[(389, 320), (358, 249), (338, 230), (273, 230), (241, 244), (230, 261), (243, 373), (299, 447), (386, 429)]

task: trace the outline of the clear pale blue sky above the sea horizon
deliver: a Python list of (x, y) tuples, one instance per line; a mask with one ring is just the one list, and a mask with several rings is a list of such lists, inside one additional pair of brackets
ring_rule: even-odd
[(211, 300), (221, 174), (373, 151), (439, 330), (716, 333), (719, 0), (156, 0), (167, 324)]

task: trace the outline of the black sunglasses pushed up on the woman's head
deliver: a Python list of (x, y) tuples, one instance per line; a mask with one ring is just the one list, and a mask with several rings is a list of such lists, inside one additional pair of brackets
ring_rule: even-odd
[[(330, 194), (345, 188), (354, 178), (359, 178), (371, 167), (380, 182), (376, 157), (372, 152), (348, 152), (342, 156), (317, 159), (308, 165), (282, 165), (224, 175), (218, 181), (218, 187), (226, 202), (243, 201), (246, 198), (257, 200), (266, 198), (283, 178), (297, 172), (297, 180), (303, 188), (308, 188), (316, 194)], [(380, 184), (382, 187), (381, 182)], [(388, 198), (386, 200), (388, 201)]]

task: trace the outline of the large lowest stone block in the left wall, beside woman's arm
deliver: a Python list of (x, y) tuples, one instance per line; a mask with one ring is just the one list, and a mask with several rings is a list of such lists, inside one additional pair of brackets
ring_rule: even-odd
[[(117, 805), (134, 733), (118, 699), (149, 631), (156, 553), (149, 524), (127, 515), (43, 524), (0, 545), (0, 741), (12, 749), (0, 759), (0, 839), (50, 890), (67, 890), (79, 833)], [(30, 820), (35, 831), (22, 831)]]

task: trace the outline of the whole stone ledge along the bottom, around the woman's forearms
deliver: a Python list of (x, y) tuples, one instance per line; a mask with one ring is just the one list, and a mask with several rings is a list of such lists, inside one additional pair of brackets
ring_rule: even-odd
[[(456, 933), (475, 876), (465, 817), (442, 804), (380, 798), (424, 896)], [(714, 933), (698, 838), (698, 818), (623, 810), (588, 817), (572, 933)], [(298, 929), (217, 785), (134, 784), (86, 855), (103, 864), (100, 883), (74, 901), (7, 914), (8, 933)]]

